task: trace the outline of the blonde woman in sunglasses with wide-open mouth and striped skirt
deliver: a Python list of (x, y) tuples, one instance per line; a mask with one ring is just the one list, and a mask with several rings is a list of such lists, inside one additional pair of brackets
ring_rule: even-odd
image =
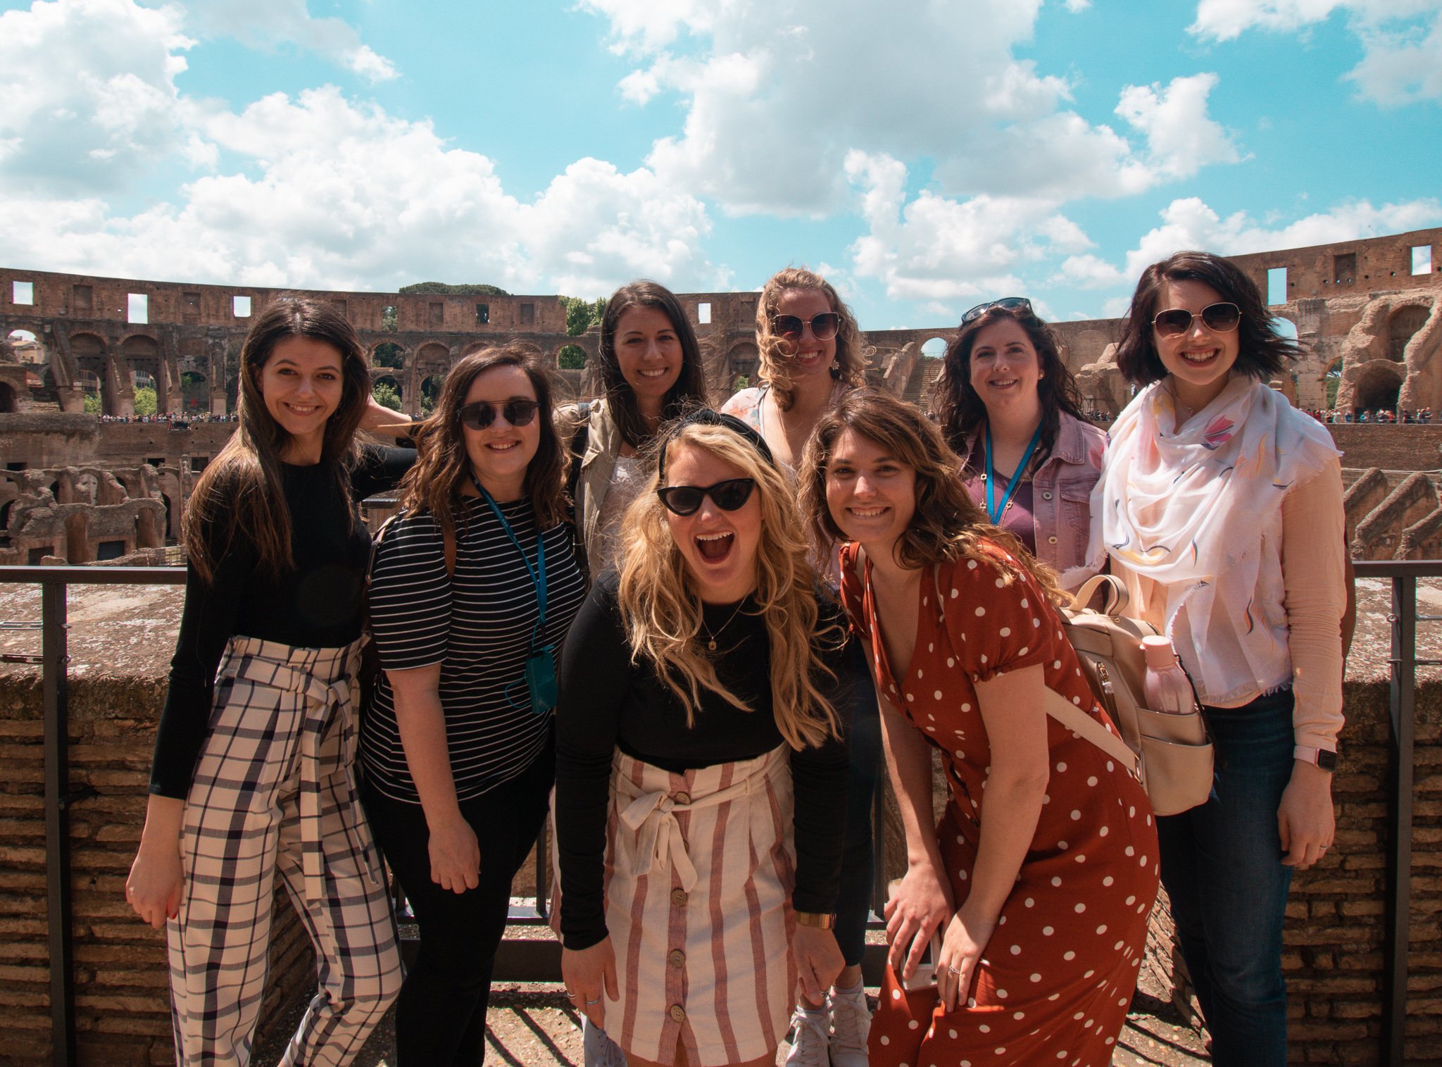
[(561, 969), (632, 1067), (770, 1067), (841, 968), (845, 634), (756, 431), (702, 409), (653, 461), (561, 666)]

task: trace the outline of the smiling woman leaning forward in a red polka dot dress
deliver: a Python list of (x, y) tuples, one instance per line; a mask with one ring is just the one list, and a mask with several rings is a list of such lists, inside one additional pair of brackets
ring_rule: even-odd
[[(1156, 895), (1156, 826), (1082, 676), (1058, 590), (986, 522), (942, 431), (858, 389), (816, 427), (803, 509), (842, 551), (906, 832), (877, 1063), (1106, 1064)], [(1090, 722), (1079, 721), (1082, 718)], [(950, 794), (932, 812), (932, 754)], [(933, 937), (934, 985), (916, 972)]]

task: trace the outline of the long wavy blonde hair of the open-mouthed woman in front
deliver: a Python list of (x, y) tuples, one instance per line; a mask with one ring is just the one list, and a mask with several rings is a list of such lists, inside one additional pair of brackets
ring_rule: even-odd
[[(845, 640), (835, 633), (816, 633), (816, 580), (808, 562), (808, 544), (792, 503), (784, 476), (735, 431), (720, 425), (688, 424), (658, 441), (668, 453), (679, 446), (704, 448), (756, 482), (761, 505), (761, 541), (756, 554), (754, 613), (766, 620), (771, 646), (771, 711), (776, 725), (792, 748), (815, 747), (839, 735), (836, 709), (816, 686), (831, 670), (820, 660), (820, 643)], [(627, 546), (620, 568), (620, 611), (633, 662), (649, 660), (686, 709), (686, 725), (695, 724), (701, 691), (709, 689), (741, 711), (753, 708), (717, 678), (715, 663), (701, 645), (701, 598), (692, 588), (681, 549), (666, 523), (666, 509), (656, 487), (658, 448), (647, 450), (652, 474), (640, 496), (626, 510), (622, 523)]]

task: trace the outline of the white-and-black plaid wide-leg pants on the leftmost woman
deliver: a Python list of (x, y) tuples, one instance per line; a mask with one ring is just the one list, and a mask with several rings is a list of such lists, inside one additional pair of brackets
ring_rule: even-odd
[(221, 660), (167, 927), (179, 1067), (249, 1063), (277, 875), (319, 960), (284, 1067), (349, 1064), (399, 992), (385, 877), (352, 774), (359, 647), (232, 637)]

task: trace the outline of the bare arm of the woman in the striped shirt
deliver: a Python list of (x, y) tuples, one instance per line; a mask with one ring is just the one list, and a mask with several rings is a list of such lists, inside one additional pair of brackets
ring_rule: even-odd
[(385, 673), (395, 695), (395, 722), (405, 763), (430, 831), (431, 881), (453, 893), (473, 890), (479, 884), (480, 846), (456, 802), (441, 708), (441, 665)]

